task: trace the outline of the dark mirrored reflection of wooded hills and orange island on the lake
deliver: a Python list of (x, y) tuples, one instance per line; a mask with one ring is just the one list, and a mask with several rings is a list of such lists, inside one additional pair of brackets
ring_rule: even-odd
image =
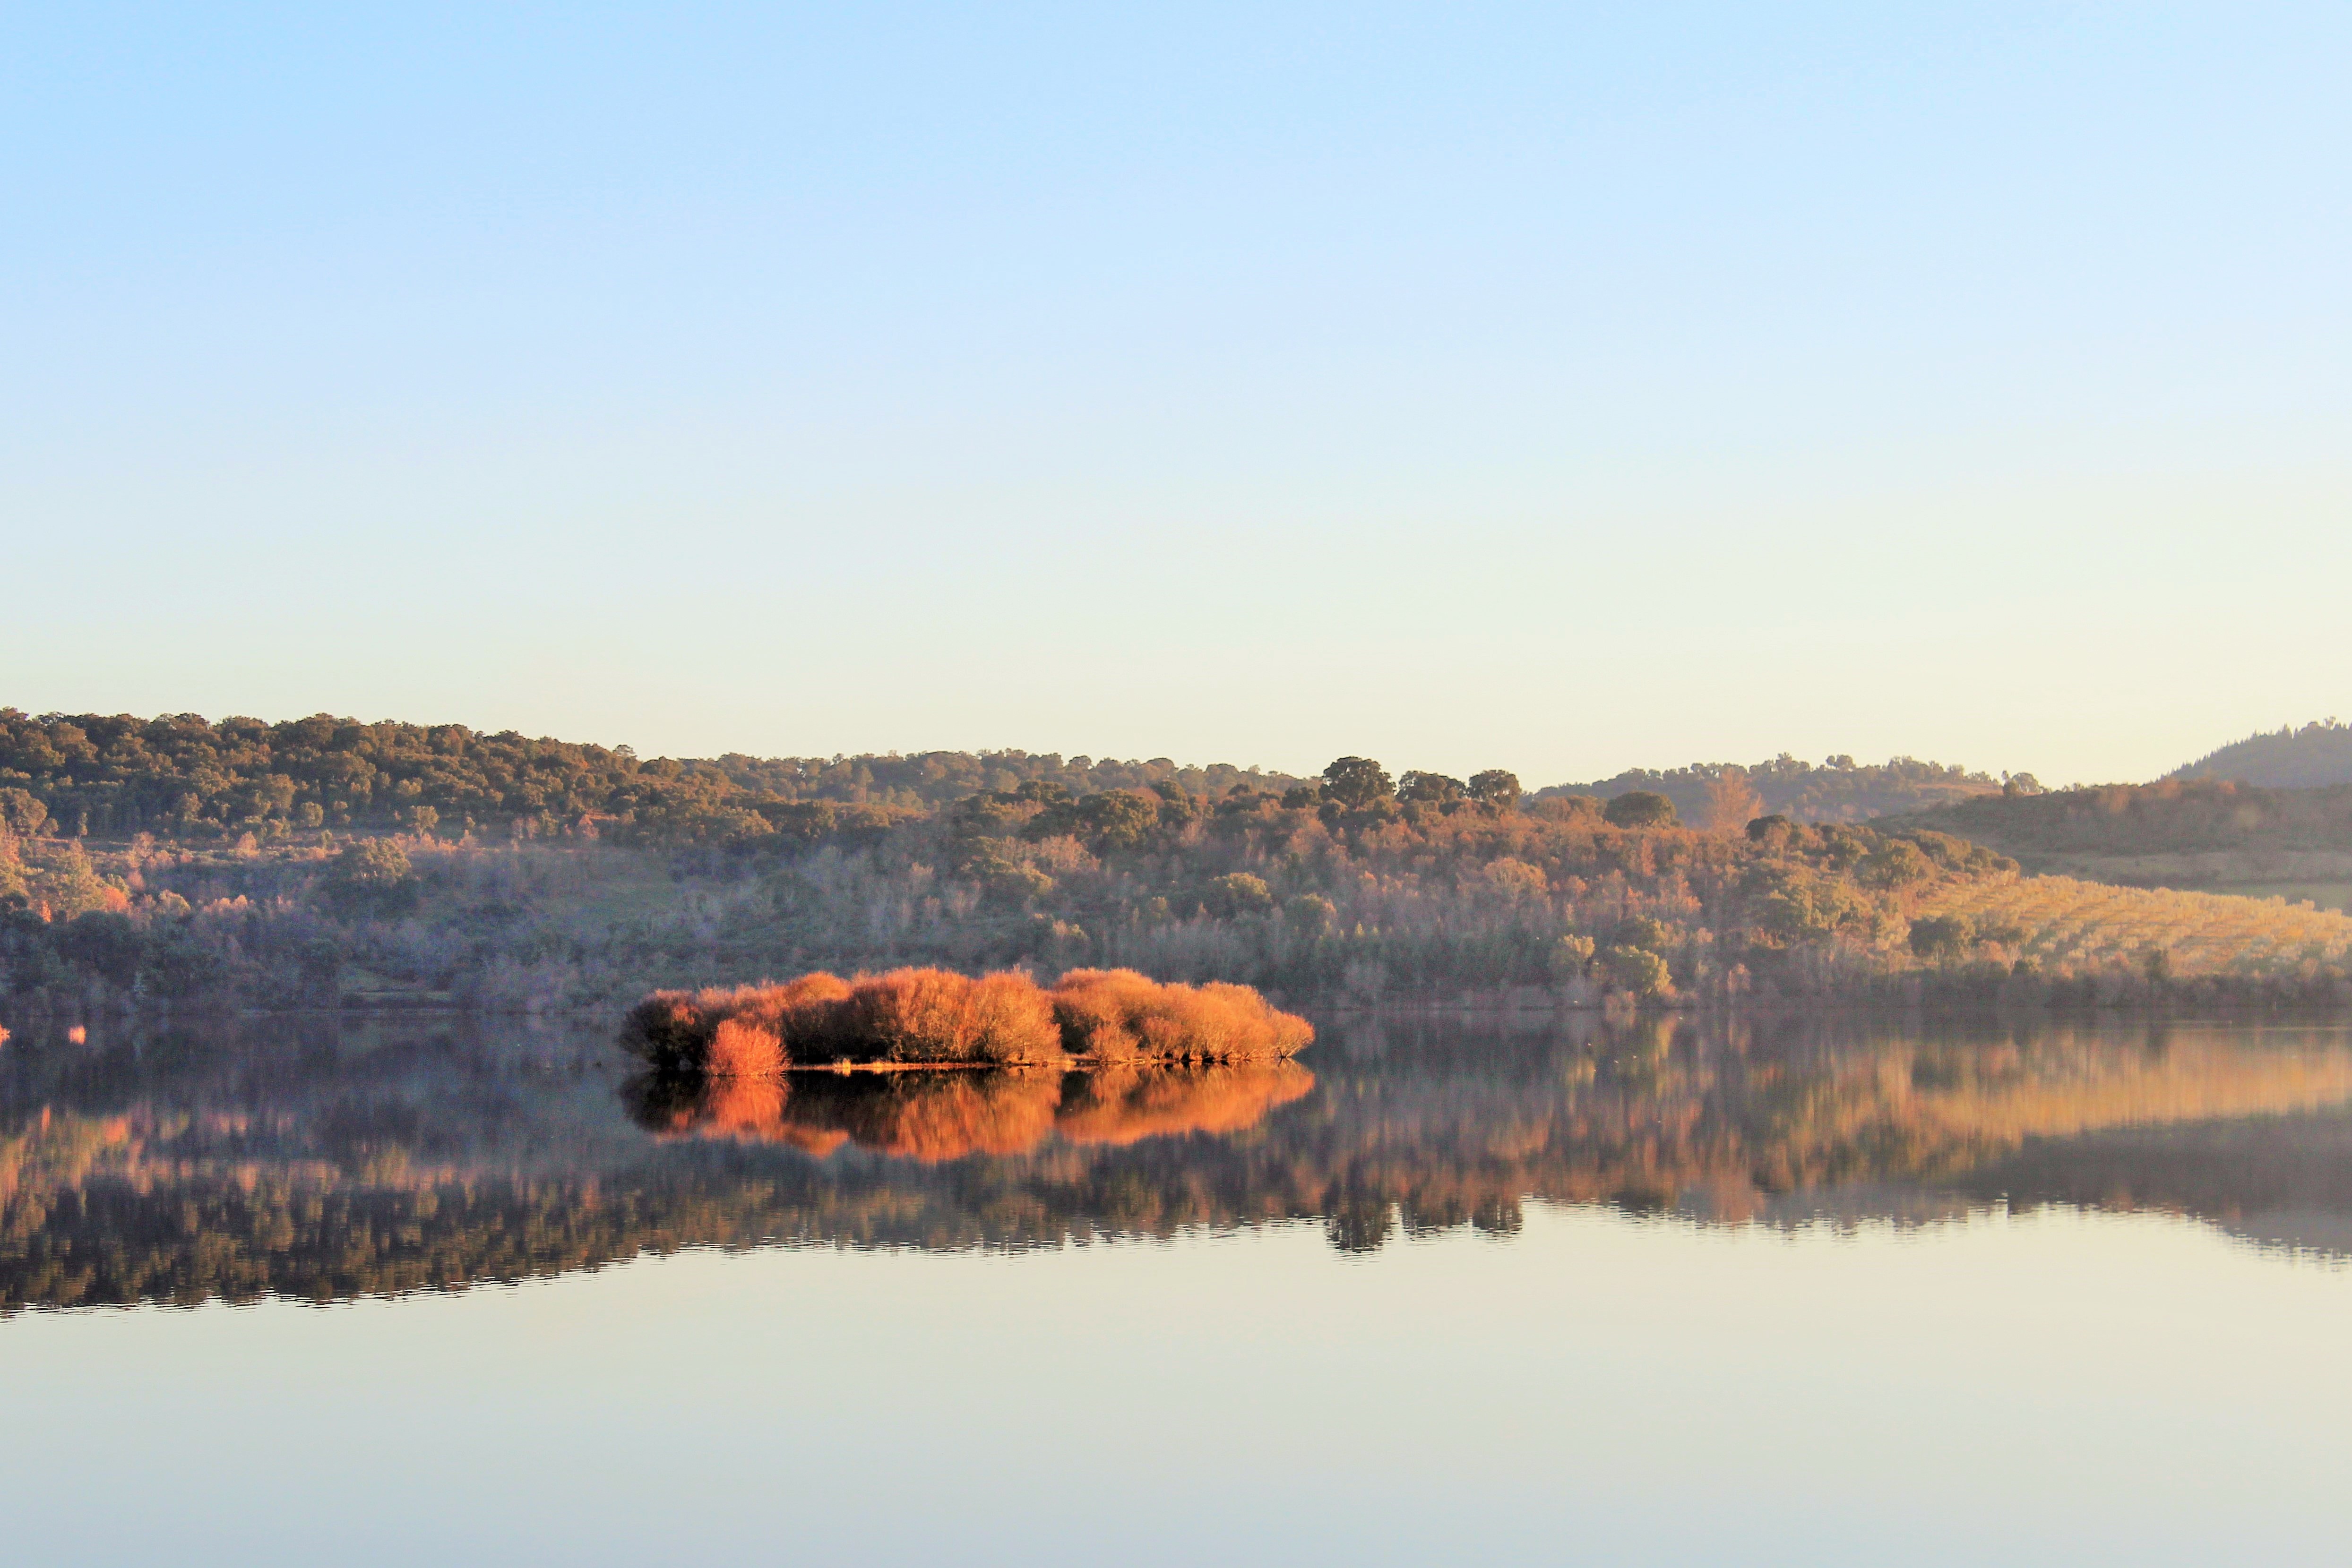
[(0, 1051), (0, 1309), (456, 1288), (680, 1246), (1061, 1246), (1522, 1204), (2044, 1201), (2352, 1253), (2352, 1037), (1969, 1020), (1327, 1025), (1310, 1065), (623, 1081), (593, 1034), (247, 1020)]

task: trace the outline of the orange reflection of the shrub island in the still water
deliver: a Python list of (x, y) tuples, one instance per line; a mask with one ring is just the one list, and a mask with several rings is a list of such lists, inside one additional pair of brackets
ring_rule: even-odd
[(847, 1143), (938, 1164), (1028, 1154), (1058, 1135), (1127, 1145), (1174, 1133), (1237, 1133), (1303, 1098), (1296, 1063), (1105, 1067), (1098, 1072), (901, 1072), (771, 1079), (640, 1077), (623, 1098), (637, 1126), (680, 1138), (788, 1143), (816, 1157)]

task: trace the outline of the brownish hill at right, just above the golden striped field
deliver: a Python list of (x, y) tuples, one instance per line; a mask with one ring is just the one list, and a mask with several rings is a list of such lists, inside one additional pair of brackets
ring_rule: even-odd
[(2265, 790), (2230, 780), (1990, 795), (1875, 823), (1933, 830), (2030, 872), (2249, 898), (2352, 900), (2352, 785)]

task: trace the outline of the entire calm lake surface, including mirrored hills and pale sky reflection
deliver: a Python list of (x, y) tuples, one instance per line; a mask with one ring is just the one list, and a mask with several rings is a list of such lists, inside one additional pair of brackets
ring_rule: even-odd
[(2343, 1554), (2352, 1034), (1348, 1025), (630, 1084), (0, 1048), (14, 1561)]

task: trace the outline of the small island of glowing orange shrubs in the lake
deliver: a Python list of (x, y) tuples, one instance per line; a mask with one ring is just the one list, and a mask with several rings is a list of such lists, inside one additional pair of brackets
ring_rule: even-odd
[(1249, 985), (1162, 985), (1131, 969), (1073, 969), (1051, 990), (1021, 971), (891, 969), (783, 985), (654, 992), (621, 1044), (656, 1072), (767, 1077), (788, 1067), (1254, 1063), (1296, 1056), (1315, 1030)]

